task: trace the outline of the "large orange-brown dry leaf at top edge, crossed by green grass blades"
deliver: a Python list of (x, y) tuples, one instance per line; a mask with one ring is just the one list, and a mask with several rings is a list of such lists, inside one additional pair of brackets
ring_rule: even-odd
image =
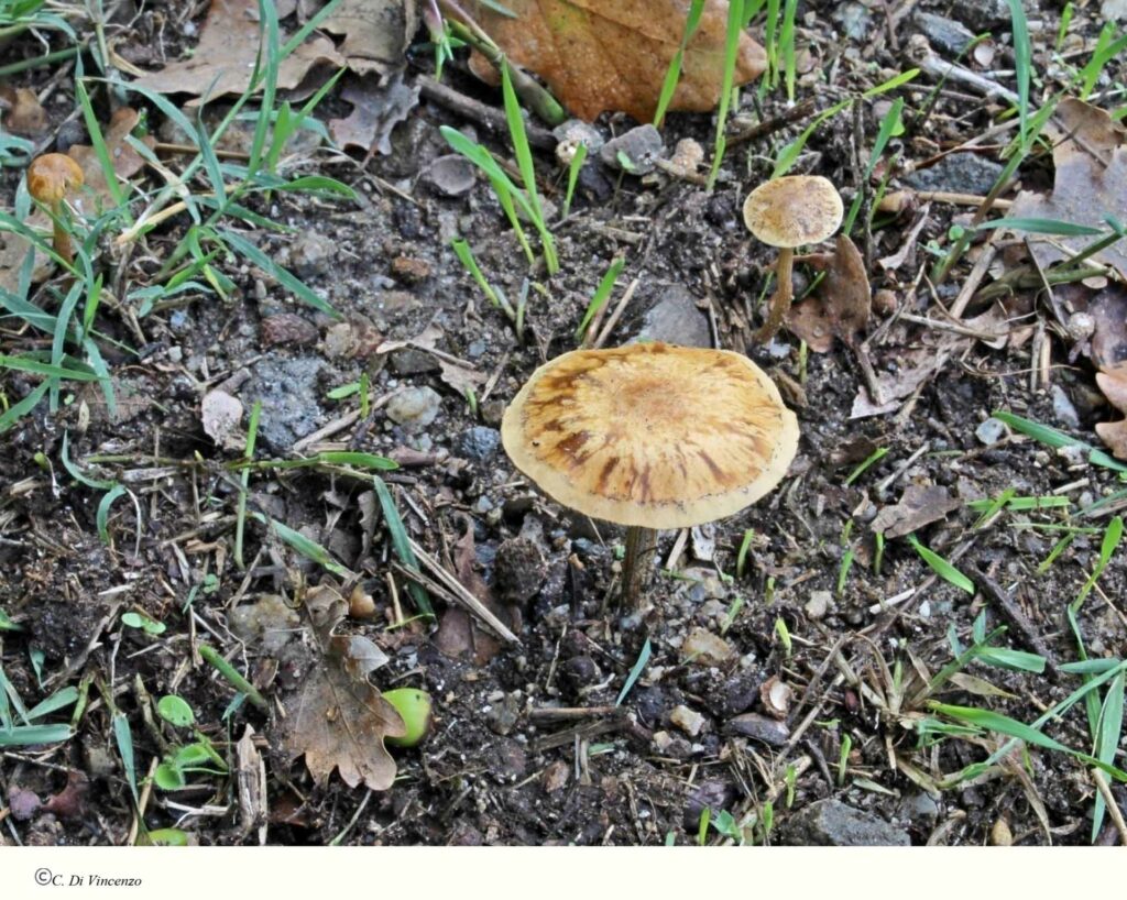
[[(588, 122), (606, 110), (629, 113), (639, 122), (654, 117), (684, 33), (684, 0), (505, 0), (504, 6), (516, 18), (469, 3), (502, 50), (543, 78), (573, 114)], [(727, 21), (727, 0), (706, 0), (671, 110), (716, 107)], [(736, 83), (758, 78), (765, 66), (763, 47), (742, 34)]]

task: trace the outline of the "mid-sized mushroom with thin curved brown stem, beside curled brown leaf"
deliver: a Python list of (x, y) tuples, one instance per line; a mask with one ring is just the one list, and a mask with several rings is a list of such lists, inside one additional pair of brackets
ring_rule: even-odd
[(779, 248), (771, 311), (755, 340), (774, 337), (795, 296), (791, 271), (795, 248), (824, 241), (842, 223), (842, 198), (820, 175), (789, 175), (760, 185), (744, 201), (744, 224), (763, 243)]

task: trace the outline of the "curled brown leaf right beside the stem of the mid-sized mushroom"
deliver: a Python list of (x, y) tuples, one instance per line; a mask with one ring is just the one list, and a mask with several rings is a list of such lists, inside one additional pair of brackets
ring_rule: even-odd
[(838, 234), (832, 253), (806, 258), (826, 277), (815, 296), (791, 308), (787, 327), (815, 353), (828, 353), (834, 338), (849, 346), (857, 342), (872, 314), (872, 287), (864, 257), (848, 234)]

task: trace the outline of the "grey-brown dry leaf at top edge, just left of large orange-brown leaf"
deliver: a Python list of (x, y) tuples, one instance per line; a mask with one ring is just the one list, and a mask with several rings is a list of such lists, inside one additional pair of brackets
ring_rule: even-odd
[(344, 0), (321, 27), (344, 35), (340, 53), (354, 72), (388, 74), (403, 65), (419, 10), (416, 0)]

